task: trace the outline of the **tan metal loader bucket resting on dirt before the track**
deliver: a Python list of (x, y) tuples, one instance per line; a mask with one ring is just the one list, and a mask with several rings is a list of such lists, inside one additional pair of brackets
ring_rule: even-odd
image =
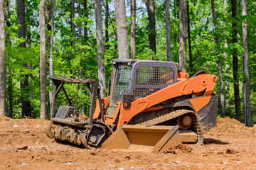
[(102, 144), (102, 149), (164, 152), (178, 144), (178, 126), (122, 125)]

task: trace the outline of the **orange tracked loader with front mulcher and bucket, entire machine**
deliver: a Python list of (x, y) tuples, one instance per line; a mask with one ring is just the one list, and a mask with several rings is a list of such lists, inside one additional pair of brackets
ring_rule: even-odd
[[(203, 142), (203, 133), (215, 127), (217, 77), (206, 71), (188, 78), (174, 62), (112, 60), (110, 96), (101, 98), (92, 79), (49, 76), (55, 85), (53, 113), (60, 90), (69, 106), (59, 106), (46, 129), (48, 137), (87, 148), (163, 152), (176, 144)], [(64, 89), (65, 83), (85, 84), (91, 98), (88, 120)], [(97, 97), (97, 99), (96, 99)]]

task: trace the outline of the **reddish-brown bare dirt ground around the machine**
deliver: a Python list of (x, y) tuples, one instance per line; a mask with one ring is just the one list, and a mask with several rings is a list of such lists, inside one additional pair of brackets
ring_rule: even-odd
[(82, 149), (48, 138), (48, 120), (0, 117), (0, 169), (256, 169), (256, 129), (218, 118), (203, 145), (166, 154)]

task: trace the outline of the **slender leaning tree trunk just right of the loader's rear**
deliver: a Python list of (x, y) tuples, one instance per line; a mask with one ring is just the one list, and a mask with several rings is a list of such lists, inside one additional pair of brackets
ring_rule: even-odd
[(223, 82), (223, 64), (222, 64), (222, 57), (221, 57), (221, 51), (220, 51), (220, 33), (218, 33), (218, 22), (215, 15), (215, 6), (214, 6), (214, 0), (211, 0), (211, 7), (212, 7), (212, 13), (213, 13), (213, 23), (215, 30), (217, 31), (217, 38), (216, 43), (218, 45), (218, 74), (220, 79), (220, 107), (221, 107), (221, 116), (225, 117), (225, 96), (224, 96), (224, 82)]

